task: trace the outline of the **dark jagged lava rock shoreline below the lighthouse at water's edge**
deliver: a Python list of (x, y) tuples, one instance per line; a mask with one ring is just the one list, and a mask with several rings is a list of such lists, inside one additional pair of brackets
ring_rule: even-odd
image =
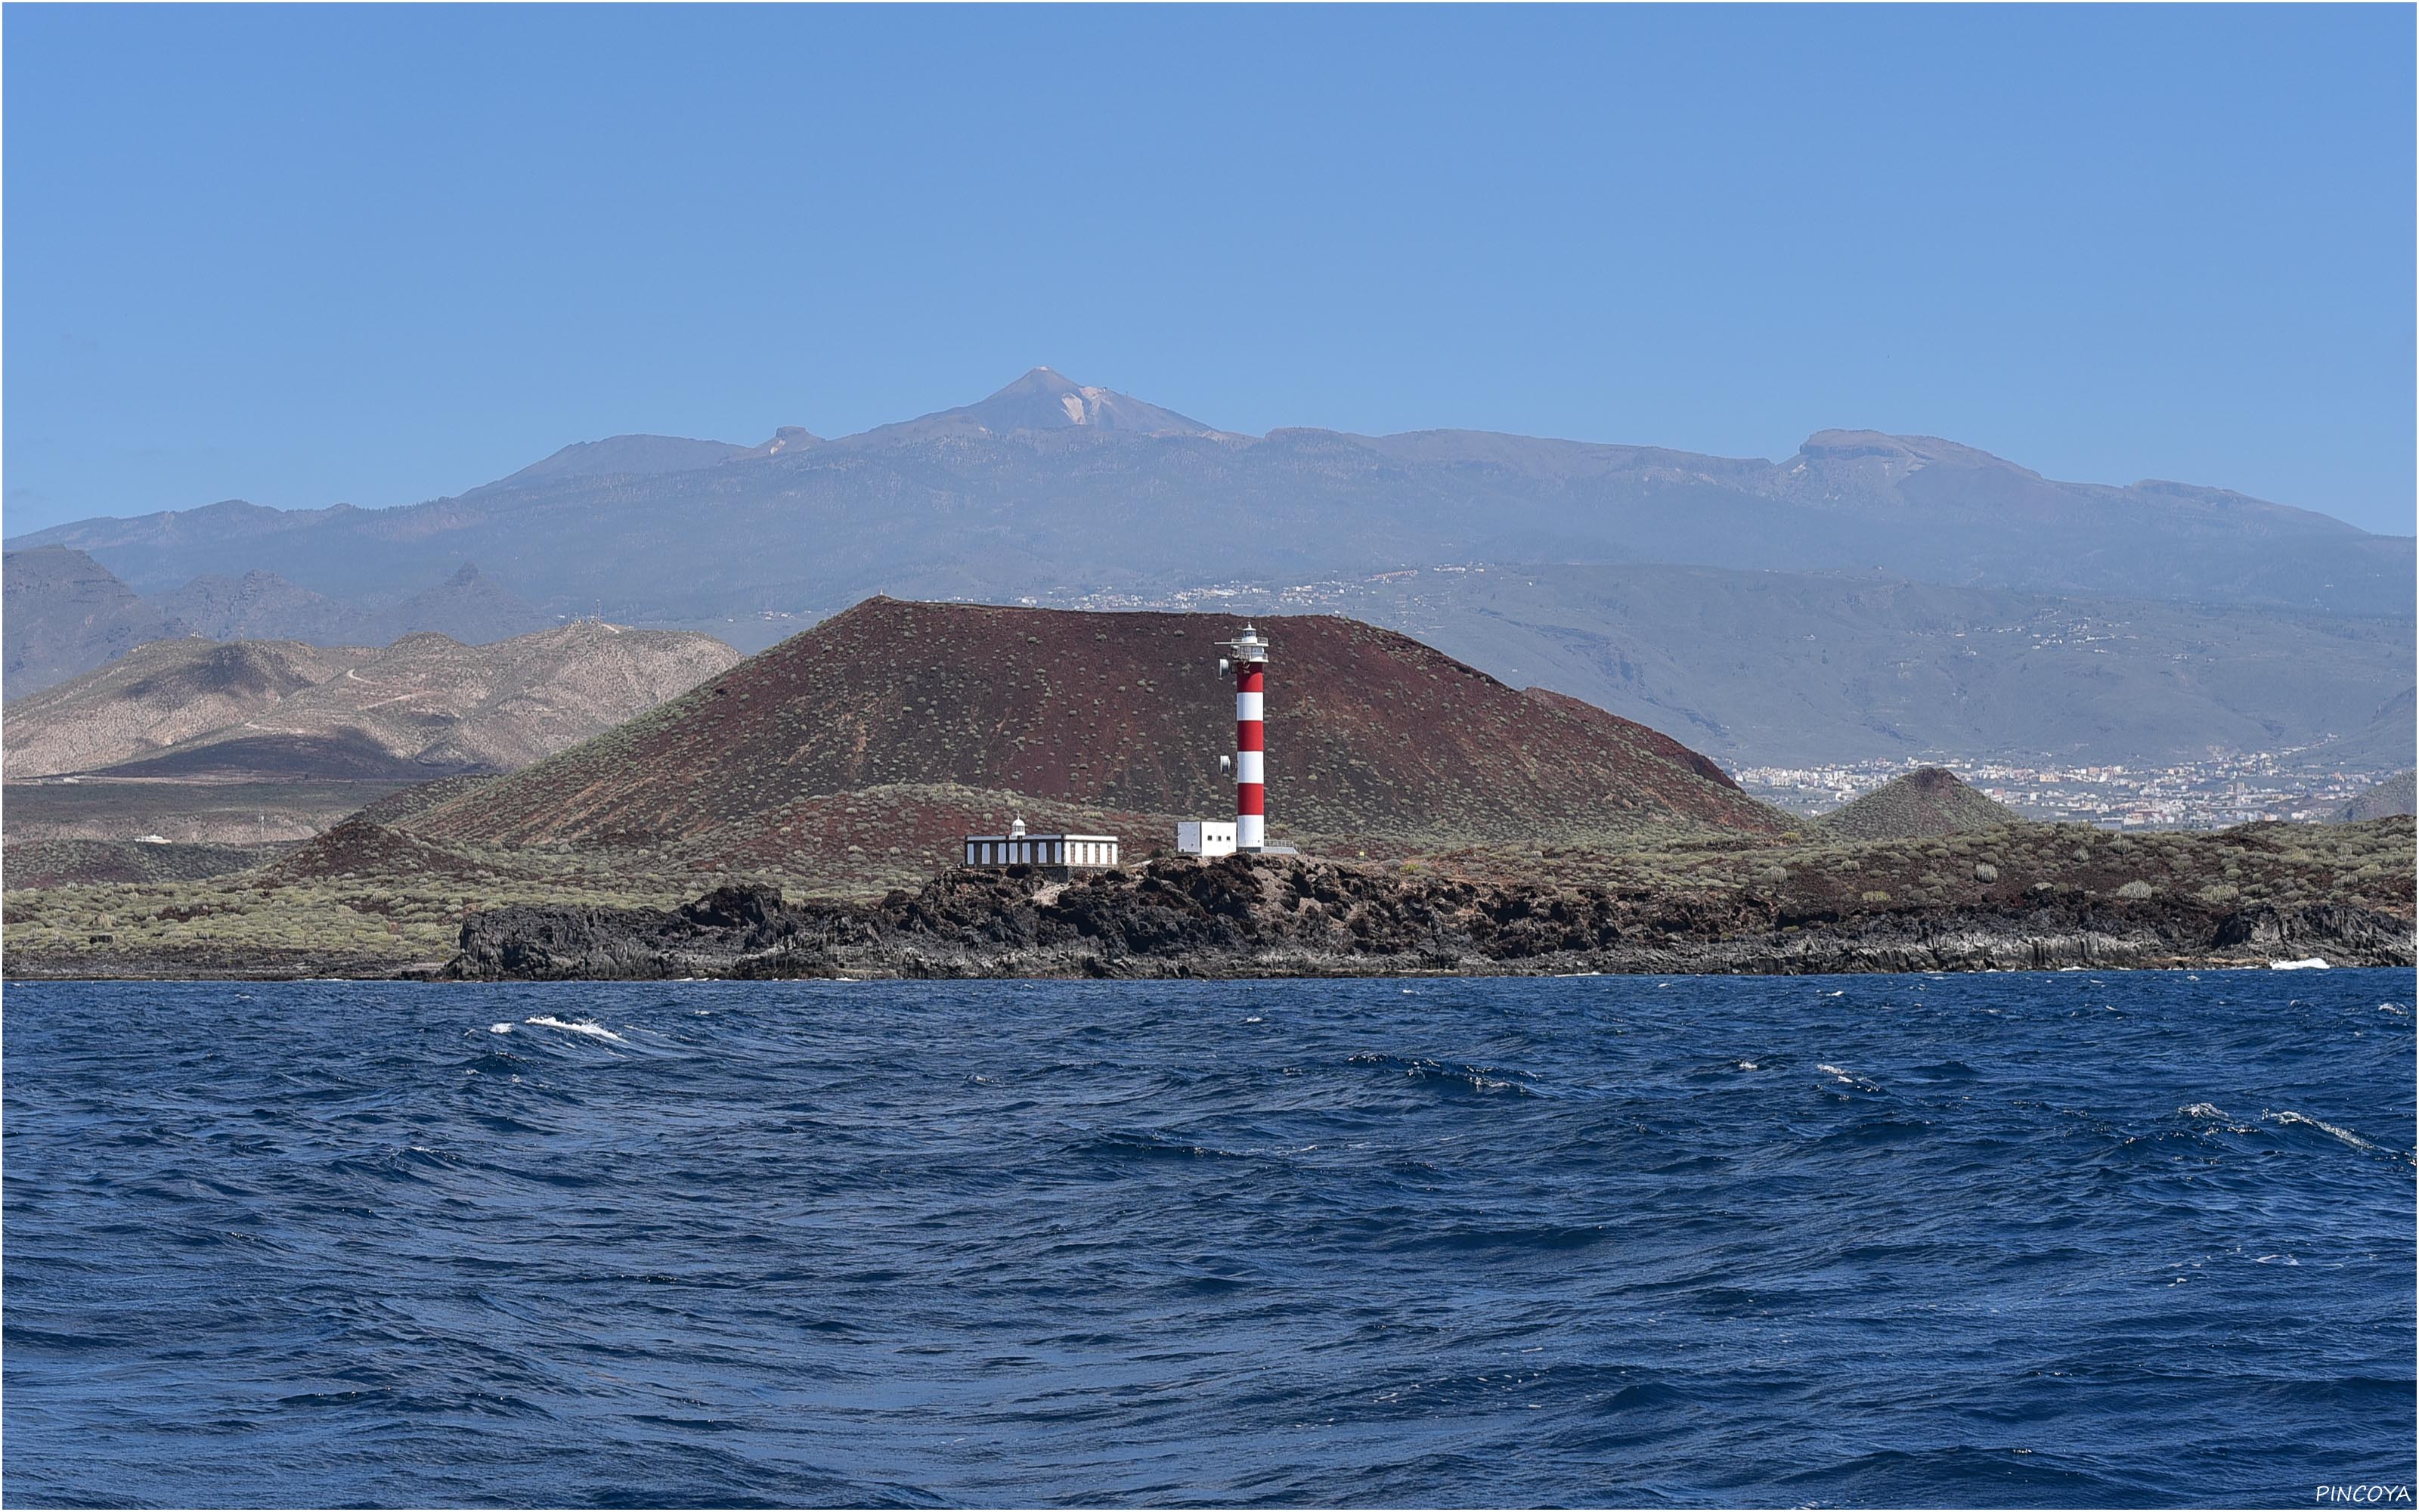
[(1316, 859), (1151, 861), (1060, 881), (948, 871), (881, 902), (723, 885), (677, 910), (472, 914), (445, 980), (1362, 977), (2412, 965), (2404, 919), (2346, 905), (2054, 895), (2022, 907), (1800, 912), (1780, 898), (1405, 878)]

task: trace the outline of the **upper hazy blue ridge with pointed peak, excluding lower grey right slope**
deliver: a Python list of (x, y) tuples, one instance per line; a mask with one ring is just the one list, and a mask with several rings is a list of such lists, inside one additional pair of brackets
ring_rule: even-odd
[(138, 590), (273, 571), (397, 595), (479, 561), (547, 612), (692, 622), (878, 590), (1001, 598), (1434, 561), (1880, 569), (1933, 583), (2407, 612), (2412, 542), (2223, 489), (2061, 484), (1824, 431), (1780, 462), (1476, 431), (1231, 435), (1035, 370), (864, 435), (612, 438), (460, 498), (80, 520)]

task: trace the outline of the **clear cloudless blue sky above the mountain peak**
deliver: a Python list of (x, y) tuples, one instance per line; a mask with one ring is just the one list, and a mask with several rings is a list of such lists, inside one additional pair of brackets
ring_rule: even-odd
[(2414, 12), (5, 12), (12, 535), (825, 435), (1950, 435), (2412, 532)]

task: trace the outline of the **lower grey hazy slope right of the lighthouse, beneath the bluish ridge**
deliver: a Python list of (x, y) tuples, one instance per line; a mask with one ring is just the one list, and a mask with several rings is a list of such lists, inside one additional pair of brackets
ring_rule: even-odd
[(2412, 750), (2407, 617), (1705, 566), (1422, 569), (1224, 602), (1389, 624), (1732, 764), (2165, 762), (2332, 735), (2329, 760), (2390, 772)]

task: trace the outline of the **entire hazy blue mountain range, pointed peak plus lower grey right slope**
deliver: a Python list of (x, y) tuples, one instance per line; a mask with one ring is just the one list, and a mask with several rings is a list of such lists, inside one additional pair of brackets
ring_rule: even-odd
[[(298, 595), (329, 614), (402, 605), (477, 561), (539, 619), (602, 612), (750, 651), (873, 593), (1164, 602), (1219, 583), (1543, 564), (1543, 588), (1519, 573), (1483, 602), (1393, 595), (1352, 612), (1725, 760), (2303, 745), (2412, 687), (2414, 542), (2223, 489), (2066, 484), (1870, 431), (1817, 433), (1780, 462), (1478, 431), (1239, 435), (1045, 368), (837, 440), (617, 435), (418, 506), (227, 501), (10, 547), (85, 552), (177, 624), (208, 619), (164, 602), (196, 578), (213, 605), (288, 614), (269, 629), (261, 610), (239, 634), (319, 639), (331, 631), (298, 629)], [(1838, 588), (1836, 573), (1901, 588)], [(10, 556), (12, 692), (19, 576)], [(46, 617), (97, 644), (140, 634), (140, 612), (102, 598), (87, 581)], [(2022, 641), (2061, 617), (2129, 629), (2085, 648), (2063, 631)], [(2001, 639), (1957, 646), (1952, 624)], [(2305, 675), (2279, 675), (2293, 668)]]

